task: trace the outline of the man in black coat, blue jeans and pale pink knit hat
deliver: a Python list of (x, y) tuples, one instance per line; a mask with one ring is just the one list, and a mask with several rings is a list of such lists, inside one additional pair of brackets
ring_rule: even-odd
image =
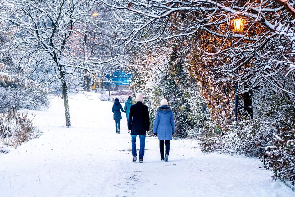
[(138, 93), (135, 98), (136, 104), (131, 105), (128, 118), (128, 130), (131, 132), (131, 147), (133, 160), (137, 160), (136, 153), (136, 136), (139, 135), (140, 149), (139, 149), (139, 162), (143, 162), (145, 136), (150, 129), (150, 116), (148, 107), (144, 105), (143, 95)]

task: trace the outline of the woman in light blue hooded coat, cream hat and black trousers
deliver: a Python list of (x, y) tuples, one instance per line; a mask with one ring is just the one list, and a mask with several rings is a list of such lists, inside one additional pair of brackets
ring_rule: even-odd
[[(163, 99), (161, 106), (157, 108), (157, 113), (154, 122), (154, 135), (158, 134), (160, 141), (160, 155), (161, 161), (168, 161), (170, 140), (174, 134), (174, 117), (172, 108), (168, 106), (168, 101)], [(165, 158), (164, 158), (164, 143), (165, 143)]]

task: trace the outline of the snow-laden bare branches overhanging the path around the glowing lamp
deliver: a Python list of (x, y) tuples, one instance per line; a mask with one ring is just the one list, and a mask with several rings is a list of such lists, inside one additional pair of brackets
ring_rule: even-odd
[[(200, 47), (206, 58), (223, 62), (223, 65), (217, 69), (221, 68), (229, 76), (242, 80), (243, 74), (240, 72), (236, 74), (237, 70), (240, 71), (245, 64), (256, 65), (254, 66), (256, 69), (252, 69), (256, 74), (248, 75), (251, 76), (253, 83), (249, 87), (240, 89), (239, 93), (247, 91), (252, 86), (265, 84), (275, 92), (295, 94), (272, 78), (279, 74), (283, 76), (285, 71), (287, 75), (293, 71), (295, 23), (293, 0), (101, 0), (101, 2), (121, 11), (124, 20), (133, 20), (126, 31), (122, 31), (124, 34), (120, 37), (125, 41), (125, 46), (135, 43), (147, 44), (149, 47), (167, 40), (177, 43), (179, 37), (193, 37), (205, 31), (211, 34), (211, 37), (218, 37), (221, 40), (216, 44), (215, 50), (208, 51)], [(238, 17), (246, 19), (242, 33), (233, 31), (233, 21)], [(269, 53), (265, 54), (267, 51)], [(231, 61), (224, 63), (228, 58)], [(271, 73), (264, 72), (268, 68), (265, 66), (270, 63), (277, 63), (281, 67), (279, 69), (272, 67), (274, 70)]]

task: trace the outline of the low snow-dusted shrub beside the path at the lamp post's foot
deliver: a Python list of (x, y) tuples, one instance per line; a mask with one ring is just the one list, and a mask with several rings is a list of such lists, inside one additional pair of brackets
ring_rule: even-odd
[[(269, 144), (275, 128), (273, 122), (263, 117), (238, 121), (227, 132), (211, 131), (210, 135), (199, 137), (202, 151), (219, 151), (221, 153), (238, 153), (261, 157)], [(230, 128), (230, 127), (229, 127)], [(205, 130), (206, 133), (208, 130)]]

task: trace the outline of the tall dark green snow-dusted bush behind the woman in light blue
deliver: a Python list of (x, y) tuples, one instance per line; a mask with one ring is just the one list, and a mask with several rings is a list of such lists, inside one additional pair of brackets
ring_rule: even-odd
[(173, 109), (175, 133), (180, 137), (188, 136), (188, 132), (203, 127), (208, 113), (197, 93), (196, 81), (188, 74), (185, 56), (185, 50), (178, 47), (173, 49), (166, 76), (161, 80), (163, 88), (155, 94), (158, 98), (168, 100)]

